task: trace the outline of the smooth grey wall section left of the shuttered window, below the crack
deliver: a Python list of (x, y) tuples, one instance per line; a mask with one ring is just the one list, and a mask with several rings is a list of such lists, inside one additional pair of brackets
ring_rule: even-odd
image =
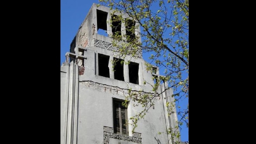
[(78, 144), (103, 144), (103, 126), (113, 127), (112, 99), (79, 84)]

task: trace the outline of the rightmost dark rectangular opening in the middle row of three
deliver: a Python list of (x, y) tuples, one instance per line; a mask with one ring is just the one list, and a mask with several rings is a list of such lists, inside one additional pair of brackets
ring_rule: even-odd
[(129, 82), (133, 84), (139, 84), (139, 64), (136, 62), (130, 62), (129, 68)]

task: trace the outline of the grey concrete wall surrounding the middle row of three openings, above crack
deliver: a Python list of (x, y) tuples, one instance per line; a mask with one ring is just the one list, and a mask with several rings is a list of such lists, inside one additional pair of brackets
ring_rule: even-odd
[[(86, 81), (91, 80), (98, 83), (103, 83), (107, 85), (116, 85), (118, 84), (121, 88), (126, 89), (127, 85), (129, 87), (132, 87), (134, 90), (140, 90), (143, 89), (145, 92), (150, 92), (152, 90), (151, 85), (154, 85), (154, 81), (152, 80), (152, 75), (150, 71), (146, 70), (145, 63), (146, 61), (140, 58), (132, 58), (130, 56), (127, 56), (124, 60), (125, 61), (132, 61), (139, 64), (139, 84), (133, 84), (129, 83), (129, 69), (128, 65), (124, 64), (124, 81), (119, 81), (114, 79), (114, 73), (112, 69), (111, 60), (113, 60), (114, 57), (116, 57), (116, 52), (106, 50), (99, 47), (86, 47), (87, 51), (85, 52), (84, 56), (87, 57), (84, 64), (84, 75), (79, 76), (79, 81)], [(109, 78), (99, 76), (98, 75), (98, 53), (109, 55), (109, 73), (110, 73), (110, 79), (113, 79), (111, 81), (108, 81)], [(158, 74), (159, 75), (159, 74)], [(102, 81), (103, 79), (103, 81)], [(106, 80), (105, 80), (106, 79)], [(143, 81), (147, 81), (149, 84), (143, 84)]]

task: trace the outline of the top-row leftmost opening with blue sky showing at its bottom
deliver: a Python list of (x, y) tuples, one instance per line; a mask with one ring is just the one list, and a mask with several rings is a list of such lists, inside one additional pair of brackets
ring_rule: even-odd
[(108, 36), (107, 31), (107, 17), (108, 12), (100, 11), (97, 9), (97, 33), (100, 35)]

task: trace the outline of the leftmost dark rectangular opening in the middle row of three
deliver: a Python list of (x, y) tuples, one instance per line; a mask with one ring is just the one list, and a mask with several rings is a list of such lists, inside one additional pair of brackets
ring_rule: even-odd
[(109, 77), (109, 56), (98, 53), (99, 76)]

